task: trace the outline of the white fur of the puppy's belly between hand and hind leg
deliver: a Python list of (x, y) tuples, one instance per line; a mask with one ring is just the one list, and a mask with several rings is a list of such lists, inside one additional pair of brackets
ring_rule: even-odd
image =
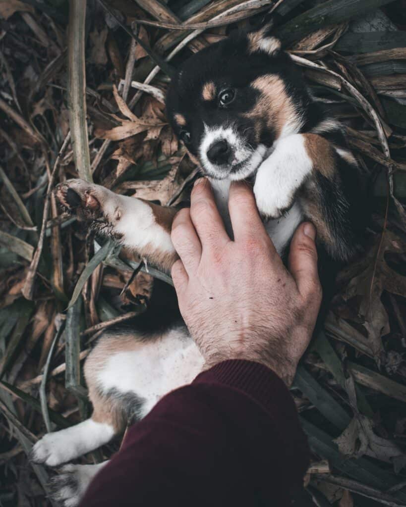
[(104, 392), (134, 393), (143, 400), (144, 417), (166, 393), (189, 384), (200, 373), (204, 359), (186, 328), (166, 332), (158, 340), (133, 350), (118, 350), (97, 373)]

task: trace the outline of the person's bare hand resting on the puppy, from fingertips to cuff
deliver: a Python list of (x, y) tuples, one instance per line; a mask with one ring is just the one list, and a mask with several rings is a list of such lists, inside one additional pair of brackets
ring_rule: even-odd
[(198, 180), (191, 206), (179, 211), (172, 267), (179, 307), (207, 368), (248, 359), (272, 369), (287, 385), (306, 350), (321, 304), (316, 230), (301, 224), (285, 268), (262, 224), (247, 184), (233, 183), (228, 237), (207, 179)]

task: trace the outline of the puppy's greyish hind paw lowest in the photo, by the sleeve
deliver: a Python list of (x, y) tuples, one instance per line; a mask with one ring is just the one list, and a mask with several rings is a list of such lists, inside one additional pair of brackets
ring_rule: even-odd
[(76, 507), (82, 499), (91, 480), (105, 463), (98, 465), (62, 466), (49, 483), (51, 496), (62, 507)]

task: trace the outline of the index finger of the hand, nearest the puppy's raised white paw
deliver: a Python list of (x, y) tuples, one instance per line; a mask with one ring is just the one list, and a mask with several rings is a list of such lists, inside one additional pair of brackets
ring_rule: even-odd
[(228, 210), (234, 240), (267, 236), (259, 216), (255, 196), (246, 182), (233, 182), (228, 198)]

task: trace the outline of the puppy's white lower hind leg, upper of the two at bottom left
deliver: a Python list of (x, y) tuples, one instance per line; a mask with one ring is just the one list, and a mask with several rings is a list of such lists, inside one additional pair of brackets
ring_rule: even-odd
[(87, 419), (76, 426), (44, 435), (32, 448), (32, 460), (57, 466), (107, 444), (113, 437), (113, 426)]

